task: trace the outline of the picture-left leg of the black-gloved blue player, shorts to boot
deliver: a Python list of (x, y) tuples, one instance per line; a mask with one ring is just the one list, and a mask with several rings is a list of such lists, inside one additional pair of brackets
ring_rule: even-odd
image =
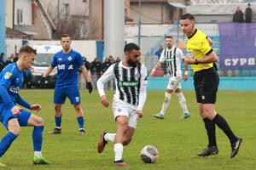
[(49, 132), (49, 134), (59, 134), (61, 133), (61, 105), (65, 103), (66, 94), (64, 88), (55, 88), (54, 93), (54, 107), (55, 107), (55, 129)]

